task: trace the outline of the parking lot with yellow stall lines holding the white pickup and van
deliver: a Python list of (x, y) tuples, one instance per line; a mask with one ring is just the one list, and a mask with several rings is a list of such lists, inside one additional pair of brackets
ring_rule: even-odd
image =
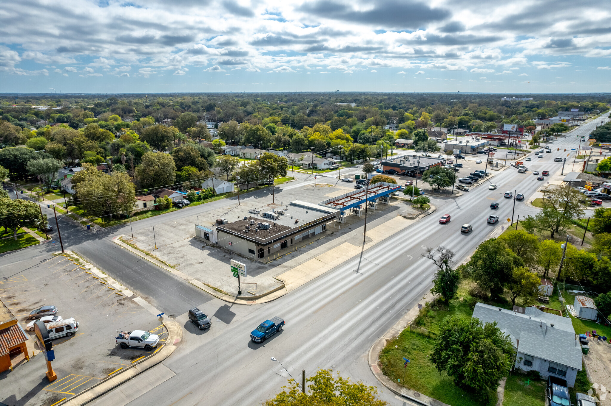
[(76, 255), (38, 257), (32, 262), (29, 267), (15, 264), (0, 268), (0, 276), (4, 276), (0, 279), (0, 299), (24, 329), (31, 322), (32, 310), (55, 305), (57, 315), (79, 322), (78, 332), (53, 340), (56, 359), (51, 364), (57, 380), (49, 383), (45, 358), (39, 354), (34, 332), (27, 331), (31, 338), (27, 341), (28, 353), (35, 356), (0, 374), (0, 402), (49, 406), (156, 351), (120, 349), (115, 344), (115, 330), (148, 330), (160, 335), (157, 349), (161, 348), (167, 337), (161, 321), (134, 301), (141, 299), (118, 282)]

